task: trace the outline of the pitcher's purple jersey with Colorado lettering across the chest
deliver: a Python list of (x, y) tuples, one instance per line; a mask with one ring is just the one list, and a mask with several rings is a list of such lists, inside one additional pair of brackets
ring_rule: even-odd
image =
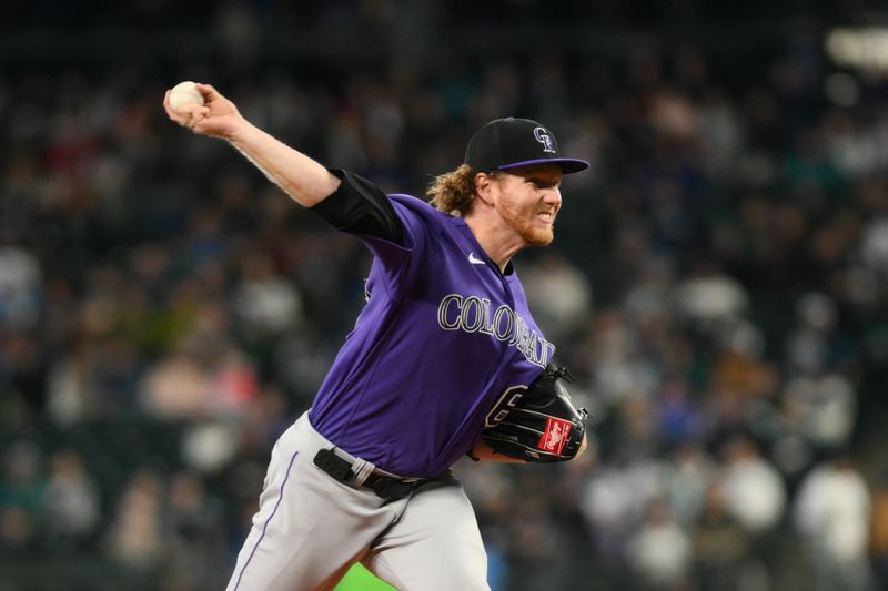
[(345, 451), (390, 472), (432, 477), (473, 446), (491, 408), (531, 384), (555, 347), (517, 275), (500, 273), (466, 223), (390, 195), (404, 246), (374, 254), (369, 300), (310, 412)]

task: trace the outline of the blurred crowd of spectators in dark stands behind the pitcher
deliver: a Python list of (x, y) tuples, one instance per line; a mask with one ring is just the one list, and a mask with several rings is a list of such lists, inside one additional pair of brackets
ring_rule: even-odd
[(667, 42), (604, 31), (633, 17), (609, 3), (461, 29), (462, 2), (229, 2), (195, 41), (210, 7), (141, 2), (153, 44), (115, 58), (93, 4), (93, 32), (4, 9), (4, 49), (49, 49), (0, 70), (0, 590), (222, 588), (363, 303), (359, 241), (165, 120), (181, 79), (390, 191), (504, 115), (593, 162), (516, 259), (592, 449), (456, 468), (495, 591), (888, 589), (888, 82), (823, 22)]

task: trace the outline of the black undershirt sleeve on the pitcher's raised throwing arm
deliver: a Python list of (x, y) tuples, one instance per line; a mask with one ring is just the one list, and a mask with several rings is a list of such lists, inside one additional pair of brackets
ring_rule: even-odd
[(340, 177), (342, 183), (332, 195), (311, 210), (336, 230), (403, 245), (404, 226), (385, 193), (349, 171), (331, 169), (330, 172)]

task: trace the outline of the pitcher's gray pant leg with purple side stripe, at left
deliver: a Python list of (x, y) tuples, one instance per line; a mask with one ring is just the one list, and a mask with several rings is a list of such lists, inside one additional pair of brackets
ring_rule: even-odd
[(228, 591), (332, 589), (397, 518), (406, 500), (383, 506), (314, 466), (325, 445), (304, 416), (281, 436)]

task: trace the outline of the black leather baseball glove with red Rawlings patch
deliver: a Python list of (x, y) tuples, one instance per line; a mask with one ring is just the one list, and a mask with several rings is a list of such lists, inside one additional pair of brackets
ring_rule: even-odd
[(585, 408), (571, 401), (566, 367), (549, 364), (529, 386), (508, 390), (485, 419), (481, 439), (495, 454), (528, 462), (576, 457), (586, 434)]

